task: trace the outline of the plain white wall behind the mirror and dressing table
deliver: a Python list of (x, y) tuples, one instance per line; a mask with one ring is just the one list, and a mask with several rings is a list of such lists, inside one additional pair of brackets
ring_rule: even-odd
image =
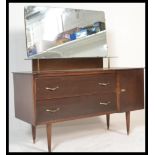
[[(34, 4), (34, 3), (32, 3)], [(14, 117), (13, 71), (31, 70), (31, 61), (26, 58), (24, 12), (27, 4), (9, 5), (9, 115)], [(29, 5), (29, 4), (28, 4)], [(145, 5), (140, 3), (51, 3), (50, 5), (105, 11), (108, 52), (118, 56), (112, 61), (113, 67), (145, 66)]]

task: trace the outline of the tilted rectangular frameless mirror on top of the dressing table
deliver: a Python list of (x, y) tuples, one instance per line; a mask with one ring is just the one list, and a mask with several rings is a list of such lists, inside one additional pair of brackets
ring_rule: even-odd
[(26, 6), (28, 58), (105, 57), (103, 11)]

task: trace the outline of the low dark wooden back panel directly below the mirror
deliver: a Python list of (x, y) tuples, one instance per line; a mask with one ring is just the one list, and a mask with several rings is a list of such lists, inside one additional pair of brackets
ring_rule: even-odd
[[(38, 64), (39, 63), (39, 64)], [(102, 58), (33, 59), (33, 71), (49, 71), (80, 68), (102, 68)]]

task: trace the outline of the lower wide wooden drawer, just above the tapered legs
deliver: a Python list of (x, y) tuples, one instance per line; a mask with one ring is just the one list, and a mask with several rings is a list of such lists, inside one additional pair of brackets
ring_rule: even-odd
[(37, 123), (116, 111), (115, 93), (38, 101)]

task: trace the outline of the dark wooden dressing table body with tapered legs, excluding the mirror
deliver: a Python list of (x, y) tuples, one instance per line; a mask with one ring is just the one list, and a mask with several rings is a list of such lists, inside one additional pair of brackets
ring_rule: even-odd
[(144, 69), (105, 68), (103, 57), (37, 55), (32, 71), (13, 73), (15, 116), (31, 124), (34, 143), (38, 125), (46, 125), (51, 152), (53, 123), (106, 115), (109, 129), (110, 114), (122, 112), (129, 134), (130, 112), (144, 108)]

